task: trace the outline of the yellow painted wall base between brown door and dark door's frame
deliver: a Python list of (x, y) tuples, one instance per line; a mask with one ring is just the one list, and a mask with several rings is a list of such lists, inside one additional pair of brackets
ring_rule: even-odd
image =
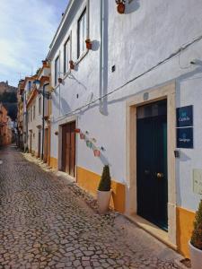
[[(91, 195), (96, 196), (101, 175), (90, 170), (77, 167), (77, 184)], [(125, 185), (112, 180), (112, 198), (110, 205), (119, 213), (125, 212)]]

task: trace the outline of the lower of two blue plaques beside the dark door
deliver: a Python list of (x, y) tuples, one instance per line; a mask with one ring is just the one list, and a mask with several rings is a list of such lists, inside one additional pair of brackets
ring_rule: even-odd
[(193, 149), (193, 127), (177, 129), (177, 147)]

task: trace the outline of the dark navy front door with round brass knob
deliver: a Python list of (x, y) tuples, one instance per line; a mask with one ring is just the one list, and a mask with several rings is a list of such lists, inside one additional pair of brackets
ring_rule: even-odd
[(137, 108), (136, 127), (137, 213), (163, 230), (167, 230), (166, 101)]

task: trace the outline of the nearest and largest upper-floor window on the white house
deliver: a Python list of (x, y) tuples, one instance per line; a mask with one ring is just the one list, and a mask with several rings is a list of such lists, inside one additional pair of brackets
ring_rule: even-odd
[(85, 40), (87, 38), (86, 9), (78, 20), (78, 58), (85, 50)]

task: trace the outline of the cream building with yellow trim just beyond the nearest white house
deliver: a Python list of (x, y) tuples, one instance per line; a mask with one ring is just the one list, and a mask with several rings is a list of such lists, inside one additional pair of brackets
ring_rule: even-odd
[[(48, 162), (49, 159), (49, 91), (50, 68), (46, 61), (38, 75), (25, 79), (25, 130), (27, 146), (32, 155)], [(39, 89), (36, 87), (39, 82)], [(43, 97), (44, 90), (44, 97)], [(44, 108), (43, 108), (44, 106)], [(44, 115), (43, 115), (44, 114)], [(43, 120), (44, 117), (44, 120)], [(44, 136), (44, 137), (43, 137)]]

